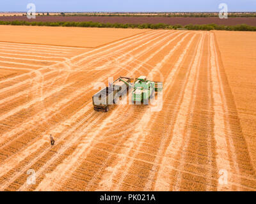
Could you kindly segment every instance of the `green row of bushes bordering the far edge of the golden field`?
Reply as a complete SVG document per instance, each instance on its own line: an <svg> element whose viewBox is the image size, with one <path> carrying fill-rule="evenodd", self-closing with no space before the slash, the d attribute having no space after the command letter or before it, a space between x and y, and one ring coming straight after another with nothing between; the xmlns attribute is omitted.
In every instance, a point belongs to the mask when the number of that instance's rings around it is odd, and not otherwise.
<svg viewBox="0 0 256 204"><path fill-rule="evenodd" d="M0 21L0 25L33 25L33 26L63 26L63 27L112 27L112 28L137 28L137 29L187 29L187 30L223 30L223 31L256 31L252 25L168 25L168 24L111 24L100 22L28 22L24 20Z"/></svg>

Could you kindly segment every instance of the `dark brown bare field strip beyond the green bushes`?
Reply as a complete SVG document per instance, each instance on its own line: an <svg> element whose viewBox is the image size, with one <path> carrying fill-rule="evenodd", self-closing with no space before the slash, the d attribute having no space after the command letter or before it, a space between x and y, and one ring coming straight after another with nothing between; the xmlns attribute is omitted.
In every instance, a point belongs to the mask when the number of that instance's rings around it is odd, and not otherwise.
<svg viewBox="0 0 256 204"><path fill-rule="evenodd" d="M102 23L121 23L121 24L217 24L217 25L237 25L247 24L256 26L256 18L228 18L220 19L215 17L61 17L61 16L49 16L49 17L38 17L35 19L28 19L27 17L0 17L0 20L26 20L29 22L42 21L42 22L102 22Z"/></svg>

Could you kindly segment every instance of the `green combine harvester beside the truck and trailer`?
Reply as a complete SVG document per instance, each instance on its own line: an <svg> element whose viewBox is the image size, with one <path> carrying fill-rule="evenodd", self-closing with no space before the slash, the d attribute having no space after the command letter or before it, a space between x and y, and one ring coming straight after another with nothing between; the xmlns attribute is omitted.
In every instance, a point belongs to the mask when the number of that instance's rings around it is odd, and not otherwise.
<svg viewBox="0 0 256 204"><path fill-rule="evenodd" d="M163 82L153 82L147 80L147 77L141 76L134 82L132 101L135 104L143 102L144 105L148 105L149 99L154 97L155 92L162 90Z"/></svg>

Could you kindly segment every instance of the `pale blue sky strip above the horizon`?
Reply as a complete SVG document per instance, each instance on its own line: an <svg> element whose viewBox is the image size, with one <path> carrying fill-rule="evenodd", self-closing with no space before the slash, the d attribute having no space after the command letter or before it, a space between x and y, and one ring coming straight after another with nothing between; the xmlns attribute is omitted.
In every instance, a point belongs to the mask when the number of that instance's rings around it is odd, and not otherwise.
<svg viewBox="0 0 256 204"><path fill-rule="evenodd" d="M228 11L256 11L256 0L0 0L0 11L27 11L28 3L36 11L219 11L220 3Z"/></svg>

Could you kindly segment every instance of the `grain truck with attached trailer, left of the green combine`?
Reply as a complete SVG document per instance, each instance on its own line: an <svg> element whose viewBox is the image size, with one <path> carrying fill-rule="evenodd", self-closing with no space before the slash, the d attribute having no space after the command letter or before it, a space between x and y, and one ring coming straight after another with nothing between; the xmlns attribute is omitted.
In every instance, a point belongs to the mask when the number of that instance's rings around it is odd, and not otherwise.
<svg viewBox="0 0 256 204"><path fill-rule="evenodd" d="M94 94L92 96L94 110L108 112L109 105L113 105L117 98L127 93L127 90L132 87L131 80L129 77L119 77L109 87Z"/></svg>

